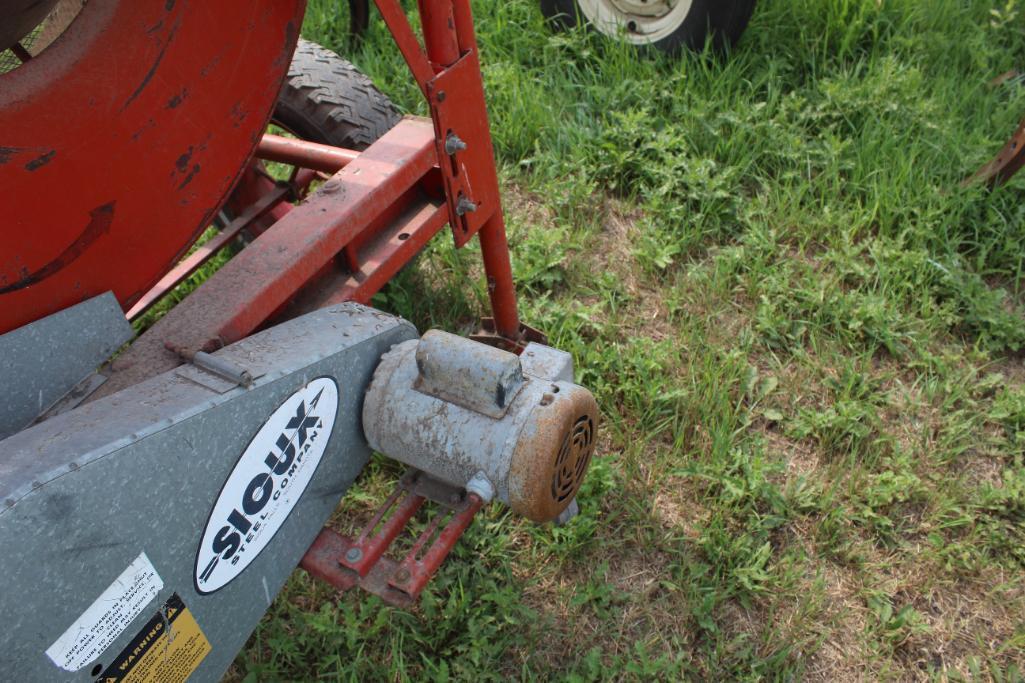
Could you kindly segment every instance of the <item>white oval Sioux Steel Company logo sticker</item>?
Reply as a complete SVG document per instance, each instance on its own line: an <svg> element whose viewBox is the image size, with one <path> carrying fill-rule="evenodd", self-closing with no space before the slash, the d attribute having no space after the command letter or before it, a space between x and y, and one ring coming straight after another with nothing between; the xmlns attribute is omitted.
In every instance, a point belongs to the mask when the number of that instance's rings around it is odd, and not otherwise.
<svg viewBox="0 0 1025 683"><path fill-rule="evenodd" d="M313 479L338 413L338 386L318 377L274 411L235 465L196 556L196 590L223 588L266 548Z"/></svg>

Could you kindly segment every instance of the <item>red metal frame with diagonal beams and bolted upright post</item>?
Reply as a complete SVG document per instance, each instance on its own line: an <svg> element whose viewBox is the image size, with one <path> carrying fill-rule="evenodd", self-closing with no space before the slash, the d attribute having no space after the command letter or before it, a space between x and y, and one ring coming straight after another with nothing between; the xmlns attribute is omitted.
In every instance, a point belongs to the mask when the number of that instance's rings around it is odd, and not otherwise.
<svg viewBox="0 0 1025 683"><path fill-rule="evenodd" d="M258 233L119 358L110 394L277 320L343 300L367 303L445 225L478 236L493 317L476 338L520 351L542 340L520 321L468 0L419 0L422 49L398 0L376 0L430 107L364 152L264 135L234 194L238 217L129 312L139 315L243 229ZM295 166L288 183L260 160ZM319 173L329 179L300 204ZM240 198L242 201L240 202ZM173 350L173 351L172 351Z"/></svg>

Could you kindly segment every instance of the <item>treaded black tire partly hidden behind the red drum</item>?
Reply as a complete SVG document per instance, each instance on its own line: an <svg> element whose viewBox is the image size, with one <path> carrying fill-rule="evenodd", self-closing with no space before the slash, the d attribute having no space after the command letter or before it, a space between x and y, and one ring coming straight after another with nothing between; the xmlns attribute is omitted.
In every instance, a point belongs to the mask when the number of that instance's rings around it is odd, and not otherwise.
<svg viewBox="0 0 1025 683"><path fill-rule="evenodd" d="M312 143L365 150L401 118L356 67L299 39L272 122Z"/></svg>

